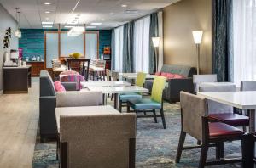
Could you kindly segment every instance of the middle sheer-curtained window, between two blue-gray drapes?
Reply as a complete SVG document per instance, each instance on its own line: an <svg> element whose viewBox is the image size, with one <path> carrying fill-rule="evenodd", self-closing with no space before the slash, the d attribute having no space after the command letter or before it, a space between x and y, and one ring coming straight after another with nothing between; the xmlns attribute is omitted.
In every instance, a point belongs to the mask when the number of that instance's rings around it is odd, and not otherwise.
<svg viewBox="0 0 256 168"><path fill-rule="evenodd" d="M134 67L136 72L149 72L149 28L149 16L137 20L134 25Z"/></svg>

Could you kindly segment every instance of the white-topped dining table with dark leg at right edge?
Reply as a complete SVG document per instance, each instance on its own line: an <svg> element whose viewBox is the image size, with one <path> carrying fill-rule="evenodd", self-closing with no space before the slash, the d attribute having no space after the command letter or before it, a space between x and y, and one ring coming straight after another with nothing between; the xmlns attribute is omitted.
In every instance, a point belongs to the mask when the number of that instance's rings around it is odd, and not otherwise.
<svg viewBox="0 0 256 168"><path fill-rule="evenodd" d="M243 92L198 92L202 98L207 98L221 104L233 106L237 109L246 109L249 115L249 138L246 149L246 167L253 167L254 139L255 139L255 109L256 91Z"/></svg>

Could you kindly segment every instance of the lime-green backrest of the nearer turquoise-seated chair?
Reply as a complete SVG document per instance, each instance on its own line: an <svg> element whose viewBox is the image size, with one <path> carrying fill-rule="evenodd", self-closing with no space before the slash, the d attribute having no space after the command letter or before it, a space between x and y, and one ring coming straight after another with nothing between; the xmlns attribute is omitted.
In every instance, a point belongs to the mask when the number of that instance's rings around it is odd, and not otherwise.
<svg viewBox="0 0 256 168"><path fill-rule="evenodd" d="M150 98L155 102L161 103L163 91L165 87L166 87L166 77L155 76Z"/></svg>

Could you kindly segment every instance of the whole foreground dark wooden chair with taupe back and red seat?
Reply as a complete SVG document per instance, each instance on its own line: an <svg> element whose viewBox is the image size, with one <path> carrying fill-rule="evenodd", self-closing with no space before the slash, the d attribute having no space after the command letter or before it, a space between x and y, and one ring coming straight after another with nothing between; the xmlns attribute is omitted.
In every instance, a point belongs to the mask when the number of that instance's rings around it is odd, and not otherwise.
<svg viewBox="0 0 256 168"><path fill-rule="evenodd" d="M177 147L176 163L180 162L182 151L185 149L201 148L199 168L206 165L221 165L236 163L246 160L245 147L247 135L240 129L224 124L222 122L211 122L208 117L207 99L201 98L189 92L180 93L181 104L181 133ZM201 141L201 145L184 147L186 135ZM224 159L224 142L241 140L242 157L235 159ZM216 148L216 160L207 161L209 147Z"/></svg>

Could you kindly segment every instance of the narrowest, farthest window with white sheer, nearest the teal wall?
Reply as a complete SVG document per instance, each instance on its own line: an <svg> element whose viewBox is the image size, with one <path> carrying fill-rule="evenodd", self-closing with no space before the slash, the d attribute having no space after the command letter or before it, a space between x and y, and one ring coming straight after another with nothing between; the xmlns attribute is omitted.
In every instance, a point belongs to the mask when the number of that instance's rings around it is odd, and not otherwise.
<svg viewBox="0 0 256 168"><path fill-rule="evenodd" d="M114 70L123 71L124 26L114 29Z"/></svg>

